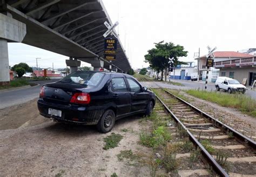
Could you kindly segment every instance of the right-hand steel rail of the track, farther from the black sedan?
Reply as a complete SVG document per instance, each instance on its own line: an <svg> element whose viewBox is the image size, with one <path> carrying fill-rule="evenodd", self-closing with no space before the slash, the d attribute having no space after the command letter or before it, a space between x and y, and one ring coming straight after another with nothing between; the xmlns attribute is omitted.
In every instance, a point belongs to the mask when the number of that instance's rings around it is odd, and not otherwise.
<svg viewBox="0 0 256 177"><path fill-rule="evenodd" d="M223 124L223 122L213 118L211 115L205 113L204 111L200 110L199 108L191 105L190 103L187 103L187 101L175 96L173 93L163 89L165 92L171 94L171 96L173 96L174 98L178 99L179 101L181 101L182 103L186 104L187 106L189 106L190 108L192 108L192 110L196 111L197 113L200 113L201 115L203 115L205 118L210 119L211 121L217 122L219 126L224 127L226 130L230 131L233 133L234 137L239 138L242 141L245 141L248 145L250 145L252 148L256 149L256 142L248 137L246 137L245 135L239 133L238 131L234 130L233 128L231 128L230 126Z"/></svg>

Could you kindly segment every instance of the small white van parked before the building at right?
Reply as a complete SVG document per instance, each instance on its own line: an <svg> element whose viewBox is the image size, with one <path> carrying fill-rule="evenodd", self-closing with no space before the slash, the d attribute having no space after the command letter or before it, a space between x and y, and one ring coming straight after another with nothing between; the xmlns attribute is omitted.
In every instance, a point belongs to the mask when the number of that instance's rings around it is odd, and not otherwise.
<svg viewBox="0 0 256 177"><path fill-rule="evenodd" d="M228 93L232 92L242 92L245 93L246 87L239 83L238 80L228 78L228 77L218 77L215 81L216 90L219 91L223 89L228 91Z"/></svg>

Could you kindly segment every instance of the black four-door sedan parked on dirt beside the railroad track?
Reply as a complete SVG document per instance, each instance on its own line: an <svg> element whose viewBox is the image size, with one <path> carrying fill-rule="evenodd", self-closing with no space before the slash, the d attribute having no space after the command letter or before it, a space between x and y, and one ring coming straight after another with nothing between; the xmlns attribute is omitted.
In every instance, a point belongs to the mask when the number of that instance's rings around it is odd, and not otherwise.
<svg viewBox="0 0 256 177"><path fill-rule="evenodd" d="M113 72L76 71L41 88L38 110L55 121L97 125L112 130L117 119L150 115L156 103L153 92L132 76Z"/></svg>

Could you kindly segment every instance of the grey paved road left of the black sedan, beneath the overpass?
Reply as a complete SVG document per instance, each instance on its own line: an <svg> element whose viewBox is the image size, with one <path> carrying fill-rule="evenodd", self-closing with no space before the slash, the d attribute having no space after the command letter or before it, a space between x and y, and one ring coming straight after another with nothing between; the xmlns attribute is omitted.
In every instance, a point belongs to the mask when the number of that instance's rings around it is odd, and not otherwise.
<svg viewBox="0 0 256 177"><path fill-rule="evenodd" d="M53 83L58 80L59 79L33 81L33 83L39 85L18 90L0 91L0 109L35 99L39 97L39 92L43 84Z"/></svg>

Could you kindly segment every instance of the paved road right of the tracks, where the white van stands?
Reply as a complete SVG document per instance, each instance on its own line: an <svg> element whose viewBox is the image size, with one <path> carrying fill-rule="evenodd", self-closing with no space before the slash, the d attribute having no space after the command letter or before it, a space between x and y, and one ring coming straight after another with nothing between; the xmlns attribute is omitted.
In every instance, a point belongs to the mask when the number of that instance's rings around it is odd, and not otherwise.
<svg viewBox="0 0 256 177"><path fill-rule="evenodd" d="M205 84L203 83L198 83L197 81L183 81L183 80L171 80L171 81L176 81L178 83L181 83L185 86L176 86L176 85L171 85L171 84L166 84L166 83L162 83L160 81L158 82L146 82L146 84L149 86L149 87L155 87L156 84L158 84L159 86L161 87L166 87L166 88L176 88L176 89L181 89L181 90L188 90L188 89L200 89L200 90L203 90L204 87L205 87ZM207 90L208 91L215 91L216 88L214 86L214 83L210 83L208 84L207 86ZM245 94L253 99L256 99L256 91L251 91L251 90L247 90L245 92Z"/></svg>

